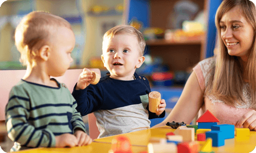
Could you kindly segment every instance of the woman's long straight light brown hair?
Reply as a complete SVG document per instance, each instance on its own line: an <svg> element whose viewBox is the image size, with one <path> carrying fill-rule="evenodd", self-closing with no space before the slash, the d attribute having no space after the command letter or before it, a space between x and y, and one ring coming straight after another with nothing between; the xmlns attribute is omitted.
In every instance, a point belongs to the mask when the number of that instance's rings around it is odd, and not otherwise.
<svg viewBox="0 0 256 153"><path fill-rule="evenodd" d="M248 64L243 68L240 57L230 56L227 47L221 38L221 28L219 25L222 16L239 6L243 11L244 18L253 26L254 42L249 52ZM214 75L209 78L209 84L206 88L206 95L213 95L217 99L224 101L226 104L244 105L243 96L243 74L248 76L250 95L252 98L251 108L256 108L256 7L250 0L223 0L216 12L215 24L217 28L216 36L216 67Z"/></svg>

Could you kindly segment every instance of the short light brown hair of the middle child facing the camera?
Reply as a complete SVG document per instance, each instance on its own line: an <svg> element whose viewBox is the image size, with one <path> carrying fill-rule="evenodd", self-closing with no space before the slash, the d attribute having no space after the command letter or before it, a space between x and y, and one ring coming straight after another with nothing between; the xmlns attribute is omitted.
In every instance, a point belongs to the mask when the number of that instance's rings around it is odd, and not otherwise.
<svg viewBox="0 0 256 153"><path fill-rule="evenodd" d="M141 55L143 56L145 47L146 47L145 39L140 31L135 29L135 27L128 26L128 25L119 25L108 30L103 36L102 50L104 49L106 40L108 40L109 38L113 38L117 34L125 34L125 33L133 34L137 37L138 43L140 45Z"/></svg>

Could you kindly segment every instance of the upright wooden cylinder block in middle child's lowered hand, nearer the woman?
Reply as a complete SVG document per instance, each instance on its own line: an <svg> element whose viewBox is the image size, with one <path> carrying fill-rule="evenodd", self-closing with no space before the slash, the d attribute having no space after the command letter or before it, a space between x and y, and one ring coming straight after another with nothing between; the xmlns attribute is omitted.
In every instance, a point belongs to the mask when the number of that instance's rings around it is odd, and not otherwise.
<svg viewBox="0 0 256 153"><path fill-rule="evenodd" d="M161 101L161 94L157 91L152 91L148 94L148 109L150 112L155 113Z"/></svg>

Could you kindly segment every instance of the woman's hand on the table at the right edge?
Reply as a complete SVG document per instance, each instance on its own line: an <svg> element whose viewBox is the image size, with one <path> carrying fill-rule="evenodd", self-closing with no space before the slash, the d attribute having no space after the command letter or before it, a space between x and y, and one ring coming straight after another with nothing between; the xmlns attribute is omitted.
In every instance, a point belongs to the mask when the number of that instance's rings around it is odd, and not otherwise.
<svg viewBox="0 0 256 153"><path fill-rule="evenodd" d="M250 110L245 113L241 119L236 123L236 127L249 128L250 130L256 131L256 111Z"/></svg>

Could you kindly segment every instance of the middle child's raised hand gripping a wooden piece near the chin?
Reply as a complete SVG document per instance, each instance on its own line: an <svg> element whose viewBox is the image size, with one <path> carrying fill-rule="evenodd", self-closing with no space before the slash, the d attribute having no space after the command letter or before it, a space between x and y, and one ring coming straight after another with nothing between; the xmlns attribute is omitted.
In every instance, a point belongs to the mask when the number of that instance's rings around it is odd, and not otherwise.
<svg viewBox="0 0 256 153"><path fill-rule="evenodd" d="M93 73L89 69L84 68L82 73L79 75L75 89L85 89L90 84L92 77Z"/></svg>

